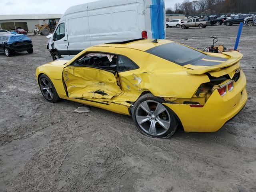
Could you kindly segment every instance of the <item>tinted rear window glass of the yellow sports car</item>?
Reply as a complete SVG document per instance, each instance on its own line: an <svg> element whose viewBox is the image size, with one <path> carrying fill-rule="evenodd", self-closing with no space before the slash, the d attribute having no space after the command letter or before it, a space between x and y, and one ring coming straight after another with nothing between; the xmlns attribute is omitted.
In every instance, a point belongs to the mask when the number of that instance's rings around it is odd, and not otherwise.
<svg viewBox="0 0 256 192"><path fill-rule="evenodd" d="M174 62L180 66L191 64L206 57L205 54L178 43L159 45L146 50L146 52L170 62Z"/></svg>

